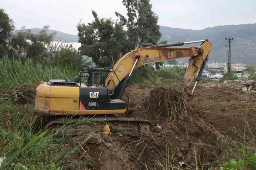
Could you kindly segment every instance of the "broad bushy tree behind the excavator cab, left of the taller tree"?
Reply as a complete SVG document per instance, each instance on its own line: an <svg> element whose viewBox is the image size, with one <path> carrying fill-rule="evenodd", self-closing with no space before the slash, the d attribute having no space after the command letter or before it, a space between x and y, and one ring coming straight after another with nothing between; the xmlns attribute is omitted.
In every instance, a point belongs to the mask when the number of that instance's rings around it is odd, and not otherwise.
<svg viewBox="0 0 256 170"><path fill-rule="evenodd" d="M111 18L100 19L95 11L92 11L94 21L88 25L78 23L78 42L81 43L81 53L92 58L99 67L114 66L121 57L126 43L126 31L123 23L113 21Z"/></svg>

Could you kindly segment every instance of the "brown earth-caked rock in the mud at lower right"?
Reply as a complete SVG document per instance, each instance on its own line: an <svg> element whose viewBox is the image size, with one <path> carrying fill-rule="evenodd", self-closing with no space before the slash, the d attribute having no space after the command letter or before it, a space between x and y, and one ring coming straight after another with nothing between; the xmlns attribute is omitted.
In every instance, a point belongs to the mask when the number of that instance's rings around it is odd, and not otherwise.
<svg viewBox="0 0 256 170"><path fill-rule="evenodd" d="M197 162L200 162L202 151L203 146L200 143L196 142L190 144L188 153L185 155L185 162L187 165L195 163L195 159L197 159Z"/></svg>

